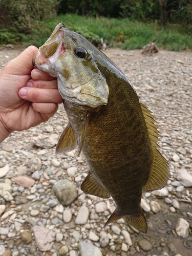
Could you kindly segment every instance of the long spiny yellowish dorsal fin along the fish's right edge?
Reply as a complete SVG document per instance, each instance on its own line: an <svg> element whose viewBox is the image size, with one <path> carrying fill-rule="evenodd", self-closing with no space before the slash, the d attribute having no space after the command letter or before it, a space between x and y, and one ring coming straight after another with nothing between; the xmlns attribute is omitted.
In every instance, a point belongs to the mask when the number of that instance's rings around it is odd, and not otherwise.
<svg viewBox="0 0 192 256"><path fill-rule="evenodd" d="M169 167L166 159L157 150L159 145L159 133L157 125L155 125L154 116L152 112L147 109L145 105L141 104L141 109L147 126L148 136L150 137L152 151L153 151L153 164L147 183L144 186L145 191L152 191L164 187L168 180Z"/></svg>

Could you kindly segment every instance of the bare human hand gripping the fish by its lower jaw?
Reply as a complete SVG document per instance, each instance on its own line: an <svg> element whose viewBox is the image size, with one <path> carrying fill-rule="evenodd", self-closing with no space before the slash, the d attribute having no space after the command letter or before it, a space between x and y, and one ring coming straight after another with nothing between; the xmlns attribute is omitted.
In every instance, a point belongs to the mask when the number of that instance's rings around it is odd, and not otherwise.
<svg viewBox="0 0 192 256"><path fill-rule="evenodd" d="M28 47L0 73L0 143L12 131L48 121L62 102L56 78L33 67L37 51Z"/></svg>

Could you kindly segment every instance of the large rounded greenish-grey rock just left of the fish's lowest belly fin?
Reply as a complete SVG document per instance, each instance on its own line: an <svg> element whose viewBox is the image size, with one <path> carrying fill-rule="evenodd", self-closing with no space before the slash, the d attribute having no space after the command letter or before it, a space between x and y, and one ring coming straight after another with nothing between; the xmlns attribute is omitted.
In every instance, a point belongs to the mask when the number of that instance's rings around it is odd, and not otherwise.
<svg viewBox="0 0 192 256"><path fill-rule="evenodd" d="M68 206L77 198L76 186L69 180L59 180L53 190L63 206Z"/></svg>

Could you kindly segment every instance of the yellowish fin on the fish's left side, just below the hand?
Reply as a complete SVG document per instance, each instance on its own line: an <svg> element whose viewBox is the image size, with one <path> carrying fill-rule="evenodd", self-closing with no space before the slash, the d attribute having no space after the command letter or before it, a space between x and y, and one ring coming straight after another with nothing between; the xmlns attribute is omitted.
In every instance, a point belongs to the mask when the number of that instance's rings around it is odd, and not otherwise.
<svg viewBox="0 0 192 256"><path fill-rule="evenodd" d="M74 150L78 146L75 131L70 123L62 132L56 145L56 154L62 154Z"/></svg>

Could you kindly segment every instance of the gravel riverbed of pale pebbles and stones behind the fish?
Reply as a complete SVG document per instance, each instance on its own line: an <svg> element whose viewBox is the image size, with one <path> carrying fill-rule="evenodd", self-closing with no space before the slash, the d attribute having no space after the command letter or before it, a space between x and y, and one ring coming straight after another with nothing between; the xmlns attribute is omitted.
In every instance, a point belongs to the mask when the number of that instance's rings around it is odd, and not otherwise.
<svg viewBox="0 0 192 256"><path fill-rule="evenodd" d="M20 51L1 50L0 70ZM76 150L55 155L68 123L61 104L48 122L13 132L0 144L0 256L192 255L192 52L160 51L150 57L139 50L104 53L154 113L160 151L170 165L165 188L143 193L148 232L122 219L104 228L115 209L113 199L80 190L88 172L83 155L77 158Z"/></svg>

